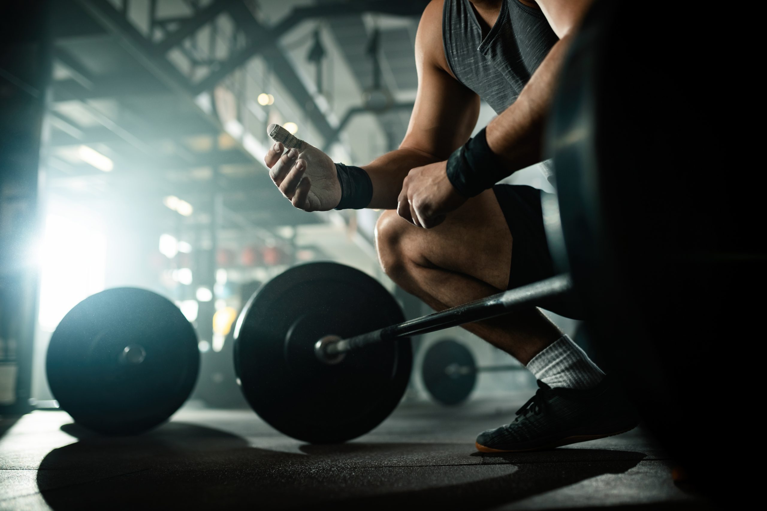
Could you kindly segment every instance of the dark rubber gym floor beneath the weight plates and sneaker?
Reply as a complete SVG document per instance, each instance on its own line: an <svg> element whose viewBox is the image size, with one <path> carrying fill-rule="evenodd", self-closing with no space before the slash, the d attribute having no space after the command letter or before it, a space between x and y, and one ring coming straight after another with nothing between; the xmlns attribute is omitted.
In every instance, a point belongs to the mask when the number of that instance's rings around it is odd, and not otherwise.
<svg viewBox="0 0 767 511"><path fill-rule="evenodd" d="M476 452L476 434L526 398L404 403L340 445L194 403L134 437L35 411L0 421L0 509L709 509L674 483L673 461L642 427L542 452Z"/></svg>

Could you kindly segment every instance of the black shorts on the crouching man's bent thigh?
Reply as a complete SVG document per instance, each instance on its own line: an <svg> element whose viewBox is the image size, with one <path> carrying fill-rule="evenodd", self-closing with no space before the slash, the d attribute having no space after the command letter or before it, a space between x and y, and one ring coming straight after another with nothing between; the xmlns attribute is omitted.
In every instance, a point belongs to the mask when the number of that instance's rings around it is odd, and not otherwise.
<svg viewBox="0 0 767 511"><path fill-rule="evenodd" d="M495 185L492 189L512 233L512 263L507 289L561 273L551 260L543 228L541 197L546 192L527 185ZM574 301L572 297L553 300L546 309L560 316L581 319L581 311Z"/></svg>

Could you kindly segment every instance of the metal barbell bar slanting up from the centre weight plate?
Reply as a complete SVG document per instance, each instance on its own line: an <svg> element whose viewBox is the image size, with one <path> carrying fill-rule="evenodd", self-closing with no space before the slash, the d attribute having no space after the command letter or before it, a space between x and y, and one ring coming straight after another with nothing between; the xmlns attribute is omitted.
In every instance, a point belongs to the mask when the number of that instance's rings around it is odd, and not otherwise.
<svg viewBox="0 0 767 511"><path fill-rule="evenodd" d="M367 332L359 336L328 342L321 347L324 353L318 353L320 359L326 356L350 352L368 344L381 341L400 339L416 334L436 332L450 326L464 325L482 319L502 316L523 306L543 305L546 300L567 293L572 288L570 276L561 274L545 280L540 280L522 287L504 291L480 300L465 303L439 313L410 319L396 325L385 326L382 329Z"/></svg>

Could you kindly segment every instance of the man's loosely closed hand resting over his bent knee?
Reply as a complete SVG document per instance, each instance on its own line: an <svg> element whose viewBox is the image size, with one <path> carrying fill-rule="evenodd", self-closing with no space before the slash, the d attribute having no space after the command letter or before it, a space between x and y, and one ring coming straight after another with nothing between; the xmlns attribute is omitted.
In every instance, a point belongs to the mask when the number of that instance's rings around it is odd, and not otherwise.
<svg viewBox="0 0 767 511"><path fill-rule="evenodd" d="M397 215L418 227L430 229L466 202L447 179L447 162L436 162L410 170L397 198Z"/></svg>

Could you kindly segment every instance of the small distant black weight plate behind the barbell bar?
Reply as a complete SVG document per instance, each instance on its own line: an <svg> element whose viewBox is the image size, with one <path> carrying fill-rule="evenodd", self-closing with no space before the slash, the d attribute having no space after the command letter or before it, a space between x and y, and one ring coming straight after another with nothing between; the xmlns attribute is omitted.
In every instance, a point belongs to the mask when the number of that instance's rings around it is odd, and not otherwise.
<svg viewBox="0 0 767 511"><path fill-rule="evenodd" d="M421 376L423 385L436 401L443 405L458 405L474 390L476 362L472 352L462 343L444 339L426 350Z"/></svg>

